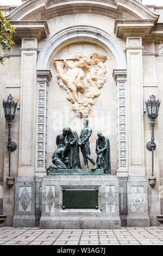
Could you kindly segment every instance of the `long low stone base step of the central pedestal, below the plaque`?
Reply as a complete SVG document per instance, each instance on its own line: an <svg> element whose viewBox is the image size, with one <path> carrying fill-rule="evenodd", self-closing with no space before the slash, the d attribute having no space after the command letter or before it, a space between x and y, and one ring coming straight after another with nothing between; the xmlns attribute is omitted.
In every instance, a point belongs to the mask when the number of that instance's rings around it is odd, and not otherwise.
<svg viewBox="0 0 163 256"><path fill-rule="evenodd" d="M41 229L120 229L120 217L41 217Z"/></svg>

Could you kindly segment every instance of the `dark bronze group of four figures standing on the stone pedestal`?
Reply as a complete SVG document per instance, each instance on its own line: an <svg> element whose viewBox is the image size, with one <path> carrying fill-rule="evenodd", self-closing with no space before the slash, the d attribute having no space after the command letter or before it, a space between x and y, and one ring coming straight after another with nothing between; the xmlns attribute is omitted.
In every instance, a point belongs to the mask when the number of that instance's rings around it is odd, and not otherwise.
<svg viewBox="0 0 163 256"><path fill-rule="evenodd" d="M97 133L96 141L96 162L92 159L90 153L89 138L92 134L92 129L89 126L89 120L84 119L84 127L78 133L72 131L70 127L65 127L62 134L57 136L57 150L54 151L52 162L54 166L49 166L49 169L81 169L79 159L79 147L82 151L85 168L89 169L88 160L93 164L92 171L103 169L105 173L111 173L110 164L110 142L109 139L103 136L102 132Z"/></svg>

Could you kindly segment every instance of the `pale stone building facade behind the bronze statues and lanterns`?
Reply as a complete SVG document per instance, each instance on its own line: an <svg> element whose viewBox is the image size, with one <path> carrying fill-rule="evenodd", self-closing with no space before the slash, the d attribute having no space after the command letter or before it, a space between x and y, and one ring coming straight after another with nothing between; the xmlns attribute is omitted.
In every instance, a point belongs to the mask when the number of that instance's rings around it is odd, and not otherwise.
<svg viewBox="0 0 163 256"><path fill-rule="evenodd" d="M4 54L5 63L0 67L0 99L2 102L11 94L20 102L11 127L12 139L17 144L17 150L11 153L11 171L15 178L12 187L6 179L8 126L0 105L0 215L6 216L3 225L39 225L40 218L47 216L42 213L45 210L43 194L54 197L48 218L51 212L54 216L55 186L66 186L68 179L74 186L79 181L80 186L105 184L103 200L114 197L112 205L116 213L112 215L108 208L108 220L118 216L121 226L160 225L157 216L163 214L163 7L145 6L136 0L22 2L18 7L2 7L6 19L16 27L16 44ZM113 175L112 178L104 176L104 181L96 177L84 179L84 176L77 176L76 182L71 176L51 181L45 177L46 167L57 149L57 135L65 126L79 135L83 123L58 84L54 59L71 59L81 52L85 56L89 53L106 56L106 81L87 118L93 129L90 138L93 159L96 159L97 132L102 131L110 139ZM146 143L151 138L151 124L145 107L145 100L152 94L161 101L154 127L156 183L153 187L148 181L152 154L146 149ZM83 168L81 153L80 159ZM45 201L48 204L48 200ZM89 214L83 212L85 218L94 216L93 211ZM59 217L60 221L66 222L66 216L70 215L67 211L62 219ZM93 220L92 217L92 224L74 225L104 228L104 222L98 224ZM41 223L44 227L43 221ZM67 227L73 227L73 223L74 219ZM49 224L51 227L61 225ZM108 227L115 228L115 225Z"/></svg>

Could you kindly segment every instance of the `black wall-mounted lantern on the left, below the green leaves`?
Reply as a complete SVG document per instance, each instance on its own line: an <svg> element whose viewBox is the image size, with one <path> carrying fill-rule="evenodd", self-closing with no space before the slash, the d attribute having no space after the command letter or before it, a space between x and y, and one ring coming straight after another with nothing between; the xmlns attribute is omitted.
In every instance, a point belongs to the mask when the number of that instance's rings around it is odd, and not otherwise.
<svg viewBox="0 0 163 256"><path fill-rule="evenodd" d="M15 178L11 176L11 152L16 150L17 145L15 142L11 141L11 125L12 125L12 121L15 118L16 107L17 107L17 102L15 103L11 94L7 96L7 101L3 100L4 116L8 122L8 127L9 127L8 146L7 146L9 150L9 176L7 177L7 184L9 186L14 185L14 180L15 180Z"/></svg>

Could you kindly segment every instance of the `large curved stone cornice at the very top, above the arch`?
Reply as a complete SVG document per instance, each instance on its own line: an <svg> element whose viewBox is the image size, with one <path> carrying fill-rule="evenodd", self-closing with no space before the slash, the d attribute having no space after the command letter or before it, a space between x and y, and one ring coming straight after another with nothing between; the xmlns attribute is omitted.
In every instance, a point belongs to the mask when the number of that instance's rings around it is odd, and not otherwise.
<svg viewBox="0 0 163 256"><path fill-rule="evenodd" d="M79 12L97 13L114 19L122 19L123 16L129 19L159 18L159 15L136 0L28 0L11 11L7 20L34 20L37 16L43 20Z"/></svg>

